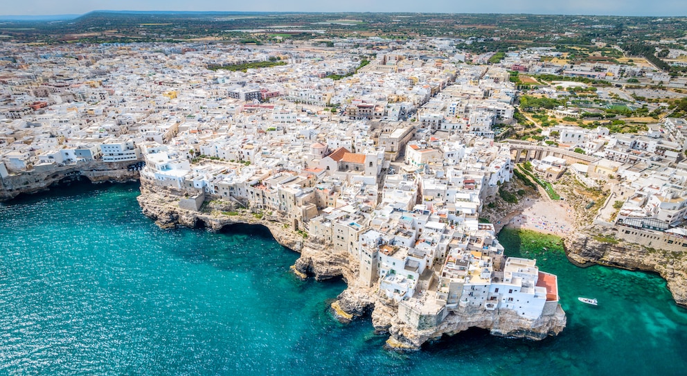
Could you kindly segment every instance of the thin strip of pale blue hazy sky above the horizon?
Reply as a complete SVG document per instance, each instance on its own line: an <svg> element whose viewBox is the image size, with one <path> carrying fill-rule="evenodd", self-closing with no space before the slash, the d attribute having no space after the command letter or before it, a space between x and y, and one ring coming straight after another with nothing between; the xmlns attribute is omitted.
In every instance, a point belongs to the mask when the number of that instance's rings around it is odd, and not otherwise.
<svg viewBox="0 0 687 376"><path fill-rule="evenodd" d="M0 15L80 15L92 10L445 12L686 16L686 0L1 0Z"/></svg>

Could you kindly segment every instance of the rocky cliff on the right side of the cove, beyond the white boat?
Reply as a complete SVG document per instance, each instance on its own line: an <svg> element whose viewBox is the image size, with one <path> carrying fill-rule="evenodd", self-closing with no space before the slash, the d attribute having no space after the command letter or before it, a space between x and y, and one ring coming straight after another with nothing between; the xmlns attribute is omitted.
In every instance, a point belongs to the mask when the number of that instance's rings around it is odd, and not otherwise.
<svg viewBox="0 0 687 376"><path fill-rule="evenodd" d="M591 263L629 270L653 271L668 282L679 305L687 305L687 252L648 249L627 242L601 242L591 234L604 229L590 227L565 240L566 255L576 265Z"/></svg>

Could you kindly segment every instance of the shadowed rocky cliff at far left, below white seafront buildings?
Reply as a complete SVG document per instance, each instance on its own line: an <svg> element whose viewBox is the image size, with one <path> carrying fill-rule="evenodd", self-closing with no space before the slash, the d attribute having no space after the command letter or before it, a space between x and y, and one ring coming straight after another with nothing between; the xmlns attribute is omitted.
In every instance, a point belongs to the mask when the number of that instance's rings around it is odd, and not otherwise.
<svg viewBox="0 0 687 376"><path fill-rule="evenodd" d="M132 162L89 162L78 165L35 169L23 174L10 175L0 179L0 201L12 199L21 193L37 193L57 186L62 181L89 179L92 183L136 181L139 172L127 168Z"/></svg>

